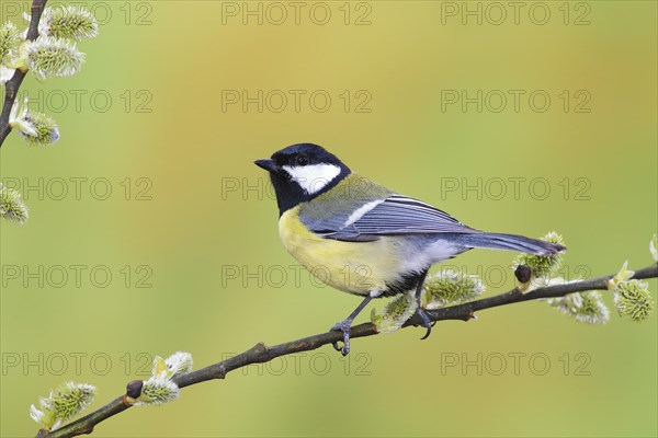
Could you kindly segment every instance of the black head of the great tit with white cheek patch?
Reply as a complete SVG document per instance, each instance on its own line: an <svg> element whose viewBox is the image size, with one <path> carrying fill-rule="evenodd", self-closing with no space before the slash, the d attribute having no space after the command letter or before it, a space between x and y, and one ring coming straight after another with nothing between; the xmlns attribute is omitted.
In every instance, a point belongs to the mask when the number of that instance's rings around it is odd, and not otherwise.
<svg viewBox="0 0 658 438"><path fill-rule="evenodd" d="M270 172L280 215L331 189L350 174L350 168L334 154L313 143L288 146L254 163Z"/></svg>

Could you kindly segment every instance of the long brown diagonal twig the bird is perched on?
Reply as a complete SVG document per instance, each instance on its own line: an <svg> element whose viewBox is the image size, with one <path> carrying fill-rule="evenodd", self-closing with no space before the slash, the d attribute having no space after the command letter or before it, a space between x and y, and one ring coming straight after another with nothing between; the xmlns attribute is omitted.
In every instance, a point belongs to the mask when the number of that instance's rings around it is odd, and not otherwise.
<svg viewBox="0 0 658 438"><path fill-rule="evenodd" d="M490 298L484 298L481 300L470 301L467 303L451 306L447 308L441 308L436 310L430 310L427 312L432 321L468 321L474 318L474 312L479 310L491 309L499 306L513 304L515 302L538 300L543 298L564 297L569 293L581 292L586 290L605 290L608 289L608 280L610 280L612 277L613 275L608 275L604 277L592 278L583 281L549 286L532 290L527 293L522 293L518 289L512 289L508 292L500 293ZM636 270L635 275L633 276L633 278L636 279L656 277L658 277L658 264ZM418 314L415 314L409 321L407 321L405 326L418 325L420 321L421 320L418 316ZM364 323L352 327L351 337L356 338L372 336L376 334L377 330L375 324ZM246 367L251 364L266 362L276 357L291 355L294 353L310 351L321 347L322 345L340 341L342 341L342 333L328 332L274 346L266 346L263 343L259 343L245 353L241 353L220 362L211 365L208 367L202 368L200 370L180 376L178 378L174 378L173 381L179 385L179 388L184 388L208 380L224 379L226 374L230 371ZM36 437L68 438L83 434L91 434L95 425L127 410L128 407L131 407L131 405L126 402L125 395L123 395L107 403L103 407L100 407L99 410L92 412L91 414L86 415L82 418L79 418L78 420L70 423L57 430L47 431L42 429L38 431Z"/></svg>

